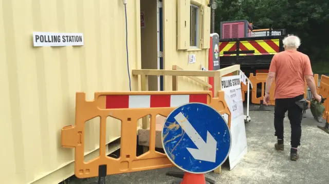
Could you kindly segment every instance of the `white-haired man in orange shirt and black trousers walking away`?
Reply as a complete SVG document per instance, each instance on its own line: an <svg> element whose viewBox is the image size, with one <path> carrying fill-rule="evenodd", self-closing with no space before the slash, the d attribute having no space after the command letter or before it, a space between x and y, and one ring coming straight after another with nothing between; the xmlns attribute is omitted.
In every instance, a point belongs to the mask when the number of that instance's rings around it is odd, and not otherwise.
<svg viewBox="0 0 329 184"><path fill-rule="evenodd" d="M297 148L300 146L301 122L303 110L295 103L304 98L304 85L307 85L312 95L319 102L321 96L317 94L312 68L307 55L297 51L300 39L295 35L288 35L283 39L285 51L273 56L266 80L264 104L269 101L269 91L273 79L275 79L275 112L274 127L278 142L277 150L284 150L283 144L283 119L288 111L291 127L290 159L296 161L299 158Z"/></svg>

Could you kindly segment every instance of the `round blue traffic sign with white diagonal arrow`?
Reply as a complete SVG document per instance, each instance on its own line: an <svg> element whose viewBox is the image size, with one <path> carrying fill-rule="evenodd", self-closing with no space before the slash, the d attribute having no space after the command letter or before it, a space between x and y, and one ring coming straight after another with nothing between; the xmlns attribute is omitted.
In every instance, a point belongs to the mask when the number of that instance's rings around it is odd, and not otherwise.
<svg viewBox="0 0 329 184"><path fill-rule="evenodd" d="M202 174L220 167L231 149L227 122L212 107L189 103L177 107L162 128L162 146L179 169Z"/></svg>

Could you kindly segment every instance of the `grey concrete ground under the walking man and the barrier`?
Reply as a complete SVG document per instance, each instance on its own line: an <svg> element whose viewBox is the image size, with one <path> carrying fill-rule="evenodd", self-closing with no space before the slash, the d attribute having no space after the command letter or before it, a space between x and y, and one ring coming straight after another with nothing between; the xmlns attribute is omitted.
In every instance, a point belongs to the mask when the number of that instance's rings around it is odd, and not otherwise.
<svg viewBox="0 0 329 184"><path fill-rule="evenodd" d="M258 106L255 106L258 107ZM250 108L255 108L250 107ZM273 108L270 112L250 111L251 122L246 124L248 153L231 171L225 166L221 174L208 173L207 177L216 183L329 183L329 134L317 128L321 125L307 110L302 121L302 138L299 149L300 159L291 161L290 126L285 119L285 151L274 149L276 137L273 128ZM246 108L245 108L246 109ZM323 121L324 122L324 121ZM322 123L324 125L324 123ZM166 176L167 171L177 168L157 169L143 172L107 176L109 184L168 184L175 180ZM97 178L71 179L66 183L89 184Z"/></svg>

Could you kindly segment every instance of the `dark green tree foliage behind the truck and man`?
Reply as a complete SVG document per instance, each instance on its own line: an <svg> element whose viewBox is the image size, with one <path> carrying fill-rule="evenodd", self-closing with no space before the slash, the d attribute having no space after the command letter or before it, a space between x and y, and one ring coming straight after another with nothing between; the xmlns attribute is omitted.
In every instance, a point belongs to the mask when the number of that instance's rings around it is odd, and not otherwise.
<svg viewBox="0 0 329 184"><path fill-rule="evenodd" d="M329 62L329 1L216 0L215 32L220 22L246 19L265 29L286 29L301 38L300 51L312 62ZM257 29L257 28L256 28Z"/></svg>

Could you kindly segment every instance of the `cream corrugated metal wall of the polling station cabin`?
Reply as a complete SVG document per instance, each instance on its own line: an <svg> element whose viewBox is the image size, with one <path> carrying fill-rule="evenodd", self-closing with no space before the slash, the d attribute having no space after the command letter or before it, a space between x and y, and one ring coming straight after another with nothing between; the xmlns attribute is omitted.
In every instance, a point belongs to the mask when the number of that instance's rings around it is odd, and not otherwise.
<svg viewBox="0 0 329 184"><path fill-rule="evenodd" d="M130 70L140 68L139 2L127 5ZM75 124L75 93L128 91L125 16L116 0L2 0L0 3L1 183L58 183L74 149L61 129ZM82 47L33 47L32 32L82 32ZM138 90L132 77L132 89ZM97 149L99 125L88 123L86 153ZM120 136L116 121L107 129ZM39 180L38 180L39 179Z"/></svg>

